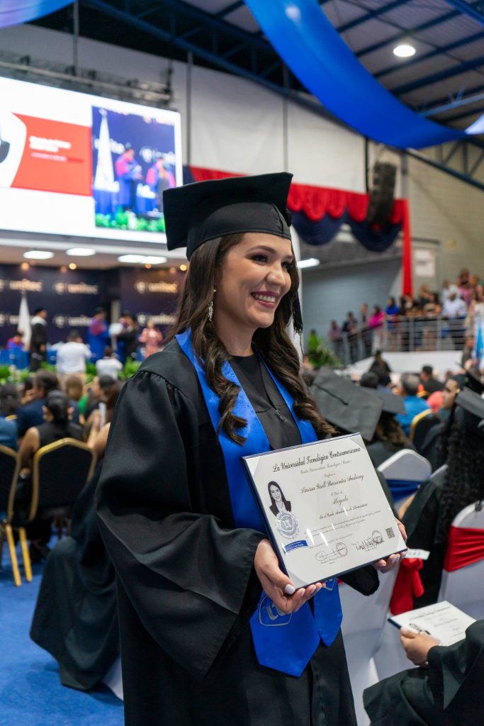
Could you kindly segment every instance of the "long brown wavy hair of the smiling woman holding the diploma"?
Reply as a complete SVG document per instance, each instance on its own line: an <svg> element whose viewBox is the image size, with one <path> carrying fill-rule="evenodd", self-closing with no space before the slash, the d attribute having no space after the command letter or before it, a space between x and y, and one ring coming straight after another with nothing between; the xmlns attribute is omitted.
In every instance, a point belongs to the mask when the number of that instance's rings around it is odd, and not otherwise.
<svg viewBox="0 0 484 726"><path fill-rule="evenodd" d="M243 428L247 421L234 415L233 410L239 393L239 386L227 380L222 373L223 364L230 360L215 325L208 319L208 306L213 301L213 289L216 271L223 264L223 258L231 247L242 241L243 234L228 234L218 237L208 244L200 245L190 260L189 271L186 273L185 285L176 323L170 331L169 338L185 330L192 330L192 344L195 355L207 376L210 388L219 396L218 411L221 415L220 429L237 444L245 439L237 429ZM277 380L279 380L294 398L294 410L298 417L308 420L316 431L319 439L324 439L333 432L331 426L319 415L316 404L308 393L303 379L300 377L298 351L292 345L287 334L293 310L298 301L299 274L295 265L290 267L291 287L284 295L274 314L274 322L270 327L258 328L253 337L253 344L267 363Z"/></svg>

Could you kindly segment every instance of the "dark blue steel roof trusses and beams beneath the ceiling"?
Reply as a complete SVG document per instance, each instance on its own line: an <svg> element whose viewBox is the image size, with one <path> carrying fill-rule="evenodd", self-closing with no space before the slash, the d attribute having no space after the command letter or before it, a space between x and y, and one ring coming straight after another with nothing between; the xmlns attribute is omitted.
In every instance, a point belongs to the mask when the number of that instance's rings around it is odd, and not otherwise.
<svg viewBox="0 0 484 726"><path fill-rule="evenodd" d="M372 20L389 9L403 5L408 0L393 0L382 2L381 6L365 13L365 15L356 20L346 23L337 28L340 32L350 30L366 20ZM327 0L319 0L319 4L324 7ZM430 20L427 23L406 31L401 31L392 38L387 38L379 44L368 46L358 52L358 56L372 52L379 47L394 43L401 37L411 36L419 30L430 28L440 23L445 23L451 18L458 17L464 12L464 9L457 9L457 5L465 4L472 13L482 13L484 0L475 0L473 2L464 3L464 0L448 0L454 9L443 15ZM81 12L83 8L95 11L104 17L109 17L120 24L120 32L123 32L123 26L129 31L130 28L146 34L148 37L155 38L160 41L160 55L171 57L171 49L177 49L179 57L186 60L197 58L206 65L213 68L233 73L247 80L254 81L266 89L279 94L284 99L290 99L297 105L305 107L311 113L316 113L323 118L329 118L333 122L343 126L343 124L332 117L319 102L311 99L305 94L300 94L302 86L298 80L292 76L281 58L274 51L272 46L263 37L262 33L248 33L242 28L227 22L226 18L242 7L242 0L227 0L226 7L218 13L204 12L181 0L79 0ZM484 31L483 31L484 33ZM446 48L430 51L426 57L433 57L438 52L450 51L465 42L472 42L484 37L483 33L475 33L462 41L456 41L449 44ZM419 58L418 60L424 60ZM415 60L414 62L417 62ZM448 78L456 73L462 72L473 65L484 62L484 57L475 59L472 63L462 63L452 68L446 69L440 73L432 74L425 78L419 79L413 84L406 84L397 92L404 93L411 88L424 86L432 81ZM465 66L465 68L464 68ZM387 69L390 72L392 69ZM382 72L381 75L384 75ZM468 94L479 93L484 87L469 89ZM477 100L477 99L474 99ZM469 99L457 97L456 99L443 98L432 104L432 108L425 110L425 115L434 115L442 112L442 106L458 109L462 105L467 105ZM456 117L454 117L456 118ZM468 162L471 156L468 152L469 144L479 147L479 154L473 158L473 163ZM484 183L477 178L483 170L484 164L484 143L477 140L469 140L458 142L451 147L451 153L443 153L438 160L433 160L420 152L409 150L409 155L418 158L424 163L430 164L438 168L440 171L450 174L461 181L472 184L479 189L484 190Z"/></svg>

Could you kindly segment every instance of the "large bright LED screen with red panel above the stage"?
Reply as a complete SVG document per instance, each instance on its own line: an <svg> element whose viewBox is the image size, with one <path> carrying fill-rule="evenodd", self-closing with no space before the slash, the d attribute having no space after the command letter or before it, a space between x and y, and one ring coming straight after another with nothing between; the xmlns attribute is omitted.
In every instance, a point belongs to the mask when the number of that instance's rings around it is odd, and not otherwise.
<svg viewBox="0 0 484 726"><path fill-rule="evenodd" d="M164 242L180 115L0 78L0 229Z"/></svg>

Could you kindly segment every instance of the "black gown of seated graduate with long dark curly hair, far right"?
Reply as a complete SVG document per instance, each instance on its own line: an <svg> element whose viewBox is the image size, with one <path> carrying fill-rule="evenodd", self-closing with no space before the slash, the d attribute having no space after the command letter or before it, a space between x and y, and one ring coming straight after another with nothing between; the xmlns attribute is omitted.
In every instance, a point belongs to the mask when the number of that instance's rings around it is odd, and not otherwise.
<svg viewBox="0 0 484 726"><path fill-rule="evenodd" d="M438 599L442 579L443 560L446 557L446 544L435 543L440 499L446 480L446 468L432 474L429 481L422 484L413 502L402 517L407 534L407 547L430 552L419 571L424 586L422 597L414 597L414 608L432 605Z"/></svg>

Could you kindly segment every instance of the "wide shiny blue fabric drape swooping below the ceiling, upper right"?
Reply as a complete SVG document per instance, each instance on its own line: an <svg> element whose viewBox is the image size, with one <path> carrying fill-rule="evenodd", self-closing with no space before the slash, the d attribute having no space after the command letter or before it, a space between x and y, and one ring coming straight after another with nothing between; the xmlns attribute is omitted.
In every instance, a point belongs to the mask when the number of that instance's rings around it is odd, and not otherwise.
<svg viewBox="0 0 484 726"><path fill-rule="evenodd" d="M331 113L370 139L401 149L464 139L412 111L369 73L316 0L245 0L276 52ZM467 129L468 133L477 133Z"/></svg>

